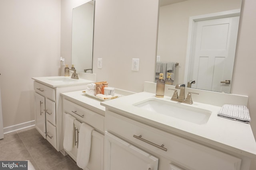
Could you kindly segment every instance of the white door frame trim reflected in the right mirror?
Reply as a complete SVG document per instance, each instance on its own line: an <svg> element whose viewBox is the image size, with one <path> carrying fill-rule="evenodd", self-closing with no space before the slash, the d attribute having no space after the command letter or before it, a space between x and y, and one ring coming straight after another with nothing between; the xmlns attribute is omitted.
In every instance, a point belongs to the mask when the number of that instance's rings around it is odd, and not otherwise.
<svg viewBox="0 0 256 170"><path fill-rule="evenodd" d="M199 16L192 16L189 18L184 82L189 81L188 78L189 78L190 59L191 59L191 53L192 53L192 41L193 41L195 22L203 21L203 20L212 20L212 19L218 19L218 18L228 18L228 17L240 16L240 11L241 11L241 9L236 9L236 10L222 11L222 12L216 12L216 13L211 13L211 14L204 14L204 15L199 15Z"/></svg>

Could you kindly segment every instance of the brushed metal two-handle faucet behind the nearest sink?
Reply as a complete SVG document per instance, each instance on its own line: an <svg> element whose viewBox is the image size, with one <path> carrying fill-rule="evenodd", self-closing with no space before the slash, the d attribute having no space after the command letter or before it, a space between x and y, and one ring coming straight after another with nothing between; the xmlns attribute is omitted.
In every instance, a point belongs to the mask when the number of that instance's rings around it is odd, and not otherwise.
<svg viewBox="0 0 256 170"><path fill-rule="evenodd" d="M199 93L194 93L194 92L188 92L188 96L185 99L185 84L177 84L175 86L175 88L180 89L180 95L178 95L178 92L176 89L168 88L169 90L174 90L174 93L171 98L172 101L186 103L186 104L193 104L193 101L191 98L191 93L199 94Z"/></svg>

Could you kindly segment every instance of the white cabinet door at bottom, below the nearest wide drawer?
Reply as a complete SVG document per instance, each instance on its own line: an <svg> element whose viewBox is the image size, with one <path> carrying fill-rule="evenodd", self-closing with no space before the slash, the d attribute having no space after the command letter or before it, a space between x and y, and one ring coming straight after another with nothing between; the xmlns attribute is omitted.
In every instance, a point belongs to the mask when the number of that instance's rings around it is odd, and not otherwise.
<svg viewBox="0 0 256 170"><path fill-rule="evenodd" d="M105 132L105 170L157 170L158 158Z"/></svg>

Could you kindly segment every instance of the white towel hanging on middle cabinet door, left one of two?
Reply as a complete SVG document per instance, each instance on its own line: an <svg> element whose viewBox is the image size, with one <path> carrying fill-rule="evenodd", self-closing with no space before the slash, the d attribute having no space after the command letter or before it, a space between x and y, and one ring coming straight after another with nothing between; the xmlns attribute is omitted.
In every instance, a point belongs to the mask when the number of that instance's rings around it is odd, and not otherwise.
<svg viewBox="0 0 256 170"><path fill-rule="evenodd" d="M73 147L74 120L75 118L72 115L67 113L65 114L65 131L64 131L63 147L67 151L71 151Z"/></svg>

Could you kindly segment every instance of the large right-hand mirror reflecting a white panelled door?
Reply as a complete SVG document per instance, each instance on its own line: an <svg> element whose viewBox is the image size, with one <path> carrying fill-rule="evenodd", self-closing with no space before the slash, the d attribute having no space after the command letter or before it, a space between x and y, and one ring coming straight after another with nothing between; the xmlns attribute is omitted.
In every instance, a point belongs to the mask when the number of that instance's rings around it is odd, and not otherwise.
<svg viewBox="0 0 256 170"><path fill-rule="evenodd" d="M156 79L161 67L173 84L195 80L191 88L230 93L241 4L160 0Z"/></svg>

